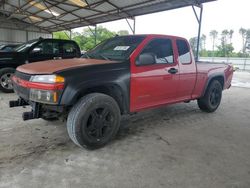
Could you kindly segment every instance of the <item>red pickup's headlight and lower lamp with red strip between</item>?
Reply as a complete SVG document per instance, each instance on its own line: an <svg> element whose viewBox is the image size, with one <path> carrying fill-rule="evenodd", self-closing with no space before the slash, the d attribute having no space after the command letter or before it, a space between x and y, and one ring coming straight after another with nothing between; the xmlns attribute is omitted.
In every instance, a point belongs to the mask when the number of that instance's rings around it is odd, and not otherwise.
<svg viewBox="0 0 250 188"><path fill-rule="evenodd" d="M58 104L64 87L64 78L58 75L36 75L30 78L30 100Z"/></svg>

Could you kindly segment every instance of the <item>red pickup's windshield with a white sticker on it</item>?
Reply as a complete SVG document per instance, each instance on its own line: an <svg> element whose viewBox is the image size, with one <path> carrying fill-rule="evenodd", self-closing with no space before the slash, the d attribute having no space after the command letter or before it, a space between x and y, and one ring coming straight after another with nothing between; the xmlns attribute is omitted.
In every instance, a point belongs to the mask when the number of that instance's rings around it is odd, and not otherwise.
<svg viewBox="0 0 250 188"><path fill-rule="evenodd" d="M117 36L102 42L93 50L86 52L83 58L126 60L143 41L145 36Z"/></svg>

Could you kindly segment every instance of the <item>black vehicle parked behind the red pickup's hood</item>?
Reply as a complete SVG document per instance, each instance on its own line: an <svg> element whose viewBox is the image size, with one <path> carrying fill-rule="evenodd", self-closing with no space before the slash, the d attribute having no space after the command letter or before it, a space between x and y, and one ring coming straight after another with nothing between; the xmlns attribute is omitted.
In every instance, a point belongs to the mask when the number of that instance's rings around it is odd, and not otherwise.
<svg viewBox="0 0 250 188"><path fill-rule="evenodd" d="M80 56L80 48L75 41L43 38L28 41L11 52L0 52L0 91L13 92L11 76L22 64Z"/></svg>

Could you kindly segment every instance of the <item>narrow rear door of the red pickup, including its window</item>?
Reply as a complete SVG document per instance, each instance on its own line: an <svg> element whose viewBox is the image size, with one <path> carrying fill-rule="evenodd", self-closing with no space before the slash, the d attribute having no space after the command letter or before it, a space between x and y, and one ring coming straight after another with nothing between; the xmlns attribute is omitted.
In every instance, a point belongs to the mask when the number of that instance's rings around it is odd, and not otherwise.
<svg viewBox="0 0 250 188"><path fill-rule="evenodd" d="M180 84L179 100L190 100L196 82L196 64L191 54L189 43L184 39L176 40L179 62Z"/></svg>

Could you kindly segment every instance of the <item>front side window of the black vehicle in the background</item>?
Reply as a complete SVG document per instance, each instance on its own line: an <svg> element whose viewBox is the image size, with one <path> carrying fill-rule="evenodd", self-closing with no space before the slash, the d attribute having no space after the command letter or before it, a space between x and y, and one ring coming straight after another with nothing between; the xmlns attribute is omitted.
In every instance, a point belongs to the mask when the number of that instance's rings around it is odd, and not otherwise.
<svg viewBox="0 0 250 188"><path fill-rule="evenodd" d="M59 44L51 41L44 41L39 43L31 51L33 54L58 54Z"/></svg>

